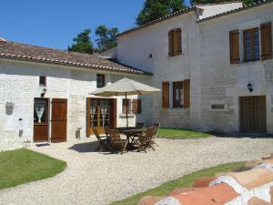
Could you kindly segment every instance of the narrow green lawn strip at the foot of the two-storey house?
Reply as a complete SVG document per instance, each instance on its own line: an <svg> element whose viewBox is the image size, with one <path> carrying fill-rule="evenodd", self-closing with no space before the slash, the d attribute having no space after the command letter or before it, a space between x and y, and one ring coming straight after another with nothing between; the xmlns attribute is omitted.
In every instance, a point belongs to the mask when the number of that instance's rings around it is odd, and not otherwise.
<svg viewBox="0 0 273 205"><path fill-rule="evenodd" d="M160 128L158 132L158 138L208 138L211 135L205 132L189 131L182 128Z"/></svg>

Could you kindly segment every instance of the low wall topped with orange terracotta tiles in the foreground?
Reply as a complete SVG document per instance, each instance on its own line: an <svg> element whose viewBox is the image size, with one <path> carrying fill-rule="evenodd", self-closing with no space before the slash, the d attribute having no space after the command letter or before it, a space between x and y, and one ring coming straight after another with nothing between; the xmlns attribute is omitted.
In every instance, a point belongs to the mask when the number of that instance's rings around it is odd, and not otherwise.
<svg viewBox="0 0 273 205"><path fill-rule="evenodd" d="M273 153L245 167L197 179L192 187L169 196L142 198L138 205L267 205L273 204Z"/></svg>

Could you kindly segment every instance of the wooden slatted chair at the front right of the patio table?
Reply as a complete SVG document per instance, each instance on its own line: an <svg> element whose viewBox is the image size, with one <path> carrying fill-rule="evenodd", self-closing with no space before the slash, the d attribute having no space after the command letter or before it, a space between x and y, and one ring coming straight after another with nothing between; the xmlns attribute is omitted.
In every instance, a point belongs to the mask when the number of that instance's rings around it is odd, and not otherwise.
<svg viewBox="0 0 273 205"><path fill-rule="evenodd" d="M154 149L152 147L152 138L154 135L154 131L155 127L147 128L145 135L136 139L138 151L145 151L147 153L147 149Z"/></svg>

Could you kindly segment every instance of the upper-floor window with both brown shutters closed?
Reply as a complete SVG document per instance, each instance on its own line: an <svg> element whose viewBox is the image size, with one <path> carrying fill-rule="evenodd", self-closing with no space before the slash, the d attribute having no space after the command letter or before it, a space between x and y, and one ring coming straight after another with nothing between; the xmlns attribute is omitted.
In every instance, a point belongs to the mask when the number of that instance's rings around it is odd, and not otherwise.
<svg viewBox="0 0 273 205"><path fill-rule="evenodd" d="M173 29L168 32L168 56L182 54L181 36L181 28Z"/></svg>

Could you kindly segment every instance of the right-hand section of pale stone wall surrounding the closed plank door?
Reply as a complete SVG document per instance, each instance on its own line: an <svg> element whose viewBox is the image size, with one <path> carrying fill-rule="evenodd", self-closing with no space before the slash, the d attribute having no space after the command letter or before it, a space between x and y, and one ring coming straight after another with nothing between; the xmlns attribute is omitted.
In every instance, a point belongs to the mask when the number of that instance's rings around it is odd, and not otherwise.
<svg viewBox="0 0 273 205"><path fill-rule="evenodd" d="M262 5L245 12L219 17L200 26L201 104L204 128L239 131L239 97L266 96L268 133L273 133L273 59L243 62L243 30L273 23L273 5ZM229 34L239 31L241 62L229 63ZM248 91L248 83L254 91ZM225 104L223 110L211 110L211 104Z"/></svg>

